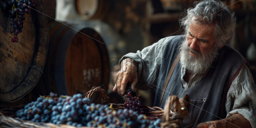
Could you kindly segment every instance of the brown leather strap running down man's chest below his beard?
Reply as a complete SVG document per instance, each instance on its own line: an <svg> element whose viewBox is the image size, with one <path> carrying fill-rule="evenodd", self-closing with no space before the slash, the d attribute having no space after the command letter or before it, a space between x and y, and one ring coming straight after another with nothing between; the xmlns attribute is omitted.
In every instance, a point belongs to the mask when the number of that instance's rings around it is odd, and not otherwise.
<svg viewBox="0 0 256 128"><path fill-rule="evenodd" d="M176 59L174 60L173 64L171 65L171 69L166 77L166 80L165 80L165 83L164 83L164 88L162 90L162 94L161 94L161 99L160 99L160 103L159 103L159 106L161 106L161 103L162 103L162 100L163 100L163 97L164 97L164 93L165 93L165 89L169 83L169 80L171 78L171 75L174 71L174 68L176 67L177 63L179 62L179 59L180 59L180 54L177 55Z"/></svg>

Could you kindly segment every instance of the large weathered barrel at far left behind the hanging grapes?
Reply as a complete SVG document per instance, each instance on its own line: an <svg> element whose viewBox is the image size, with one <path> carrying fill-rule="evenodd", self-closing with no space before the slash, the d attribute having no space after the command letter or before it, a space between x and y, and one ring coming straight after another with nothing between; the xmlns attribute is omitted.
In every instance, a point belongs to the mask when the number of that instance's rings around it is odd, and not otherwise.
<svg viewBox="0 0 256 128"><path fill-rule="evenodd" d="M41 0L25 14L18 42L11 42L10 18L0 9L0 101L13 102L28 94L37 84L47 55L48 22ZM5 103L0 102L0 107Z"/></svg>

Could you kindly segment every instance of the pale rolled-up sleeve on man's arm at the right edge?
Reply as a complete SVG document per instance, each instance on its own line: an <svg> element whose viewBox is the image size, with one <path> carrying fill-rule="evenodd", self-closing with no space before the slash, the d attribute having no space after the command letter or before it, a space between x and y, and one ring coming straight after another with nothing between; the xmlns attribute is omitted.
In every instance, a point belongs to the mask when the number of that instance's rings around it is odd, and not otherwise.
<svg viewBox="0 0 256 128"><path fill-rule="evenodd" d="M227 117L239 113L256 128L256 86L245 65L238 76L233 80L226 100Z"/></svg>

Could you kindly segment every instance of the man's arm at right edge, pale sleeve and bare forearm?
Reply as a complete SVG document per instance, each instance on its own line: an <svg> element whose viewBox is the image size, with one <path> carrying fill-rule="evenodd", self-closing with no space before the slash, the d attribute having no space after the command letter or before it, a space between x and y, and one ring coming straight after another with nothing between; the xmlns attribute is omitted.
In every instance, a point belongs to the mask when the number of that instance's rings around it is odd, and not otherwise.
<svg viewBox="0 0 256 128"><path fill-rule="evenodd" d="M244 66L233 80L225 103L226 119L201 123L199 128L256 128L256 86L248 66ZM234 125L232 125L234 124ZM212 127L210 127L212 126Z"/></svg>

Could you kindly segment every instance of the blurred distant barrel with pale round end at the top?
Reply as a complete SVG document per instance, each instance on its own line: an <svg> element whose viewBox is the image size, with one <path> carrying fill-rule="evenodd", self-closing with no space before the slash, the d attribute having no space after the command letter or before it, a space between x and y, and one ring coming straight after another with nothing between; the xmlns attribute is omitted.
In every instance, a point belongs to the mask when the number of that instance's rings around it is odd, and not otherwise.
<svg viewBox="0 0 256 128"><path fill-rule="evenodd" d="M77 13L84 19L99 19L107 15L110 1L108 0L75 0Z"/></svg>

